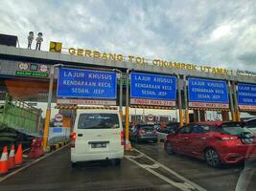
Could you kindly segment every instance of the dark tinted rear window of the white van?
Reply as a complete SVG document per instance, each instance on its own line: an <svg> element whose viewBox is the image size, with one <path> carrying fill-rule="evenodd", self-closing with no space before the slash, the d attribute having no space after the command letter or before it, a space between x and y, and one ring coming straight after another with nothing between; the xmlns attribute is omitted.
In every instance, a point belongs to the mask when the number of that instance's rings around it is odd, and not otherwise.
<svg viewBox="0 0 256 191"><path fill-rule="evenodd" d="M117 129L119 119L116 114L81 114L79 129Z"/></svg>

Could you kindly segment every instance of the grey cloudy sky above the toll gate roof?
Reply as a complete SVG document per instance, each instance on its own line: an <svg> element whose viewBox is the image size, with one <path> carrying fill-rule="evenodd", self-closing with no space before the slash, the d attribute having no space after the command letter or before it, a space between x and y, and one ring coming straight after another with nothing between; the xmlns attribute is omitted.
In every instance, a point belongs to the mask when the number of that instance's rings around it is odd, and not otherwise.
<svg viewBox="0 0 256 191"><path fill-rule="evenodd" d="M0 32L17 35L25 48L30 31L43 32L45 51L53 40L256 71L256 0L1 1Z"/></svg>

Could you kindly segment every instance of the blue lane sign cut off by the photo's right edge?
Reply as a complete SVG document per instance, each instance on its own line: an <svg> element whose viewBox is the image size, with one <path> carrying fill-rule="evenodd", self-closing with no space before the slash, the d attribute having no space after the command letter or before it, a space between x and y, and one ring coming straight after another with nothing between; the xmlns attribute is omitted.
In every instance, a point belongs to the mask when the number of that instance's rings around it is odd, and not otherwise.
<svg viewBox="0 0 256 191"><path fill-rule="evenodd" d="M256 105L256 85L238 84L238 104Z"/></svg>

